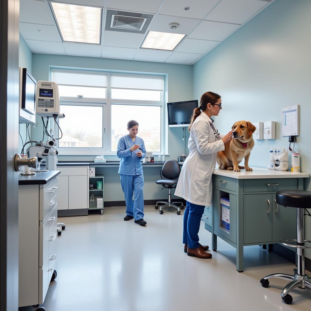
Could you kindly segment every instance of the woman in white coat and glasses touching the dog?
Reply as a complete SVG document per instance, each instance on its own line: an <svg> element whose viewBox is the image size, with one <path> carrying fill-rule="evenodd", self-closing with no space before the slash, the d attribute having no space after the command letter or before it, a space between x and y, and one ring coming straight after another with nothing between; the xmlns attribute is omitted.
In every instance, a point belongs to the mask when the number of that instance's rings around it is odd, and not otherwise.
<svg viewBox="0 0 311 311"><path fill-rule="evenodd" d="M220 135L211 116L221 109L221 97L213 92L201 96L200 106L193 110L189 126L189 156L183 162L175 195L187 201L183 214L183 244L188 256L211 258L205 252L208 246L199 243L198 232L205 206L212 203L211 177L216 165L217 152L225 150L232 132Z"/></svg>

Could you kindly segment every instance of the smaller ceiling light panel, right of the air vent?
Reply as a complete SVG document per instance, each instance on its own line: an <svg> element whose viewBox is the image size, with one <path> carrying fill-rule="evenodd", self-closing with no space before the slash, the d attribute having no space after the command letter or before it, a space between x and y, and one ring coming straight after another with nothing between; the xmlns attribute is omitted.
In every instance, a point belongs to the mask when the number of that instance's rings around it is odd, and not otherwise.
<svg viewBox="0 0 311 311"><path fill-rule="evenodd" d="M173 51L185 36L169 32L149 31L141 48Z"/></svg>

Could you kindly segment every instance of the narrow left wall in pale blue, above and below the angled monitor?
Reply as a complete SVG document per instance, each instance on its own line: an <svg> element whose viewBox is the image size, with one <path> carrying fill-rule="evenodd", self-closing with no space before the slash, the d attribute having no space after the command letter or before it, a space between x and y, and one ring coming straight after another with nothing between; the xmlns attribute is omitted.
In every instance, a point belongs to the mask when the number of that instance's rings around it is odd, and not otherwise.
<svg viewBox="0 0 311 311"><path fill-rule="evenodd" d="M30 51L28 45L20 35L19 38L19 54L18 54L18 65L19 67L27 68L30 73L32 72L32 52ZM31 137L31 131L32 126L29 126L29 133ZM23 138L23 141L25 143L26 140L26 124L20 124L19 125L19 132L21 134L21 137ZM21 148L23 146L21 137L18 136L18 152L21 151ZM29 138L27 139L29 140Z"/></svg>

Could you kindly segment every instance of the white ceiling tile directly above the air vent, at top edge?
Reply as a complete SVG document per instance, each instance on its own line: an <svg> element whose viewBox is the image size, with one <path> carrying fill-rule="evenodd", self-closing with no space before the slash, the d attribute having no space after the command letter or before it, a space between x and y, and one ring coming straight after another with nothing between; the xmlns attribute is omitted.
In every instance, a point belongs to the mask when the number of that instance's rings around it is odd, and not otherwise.
<svg viewBox="0 0 311 311"><path fill-rule="evenodd" d="M161 2L162 0L108 0L107 7L122 11L134 11L155 14L158 11Z"/></svg>

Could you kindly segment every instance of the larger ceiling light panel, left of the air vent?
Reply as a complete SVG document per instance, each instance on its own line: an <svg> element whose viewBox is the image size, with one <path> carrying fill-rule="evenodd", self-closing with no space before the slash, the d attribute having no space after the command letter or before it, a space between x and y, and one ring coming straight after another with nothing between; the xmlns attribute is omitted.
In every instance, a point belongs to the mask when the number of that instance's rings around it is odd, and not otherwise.
<svg viewBox="0 0 311 311"><path fill-rule="evenodd" d="M100 44L101 8L51 2L63 41Z"/></svg>

